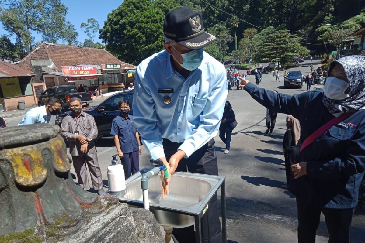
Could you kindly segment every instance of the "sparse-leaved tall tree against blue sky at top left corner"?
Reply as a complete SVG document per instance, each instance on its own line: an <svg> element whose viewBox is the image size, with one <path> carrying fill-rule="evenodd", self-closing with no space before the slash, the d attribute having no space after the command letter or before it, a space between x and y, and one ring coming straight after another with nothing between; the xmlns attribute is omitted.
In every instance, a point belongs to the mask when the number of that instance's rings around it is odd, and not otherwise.
<svg viewBox="0 0 365 243"><path fill-rule="evenodd" d="M6 0L0 8L4 29L15 36L28 51L32 50L32 32L42 34L47 42L77 42L75 27L66 21L68 8L60 0ZM4 7L5 6L5 7Z"/></svg>

